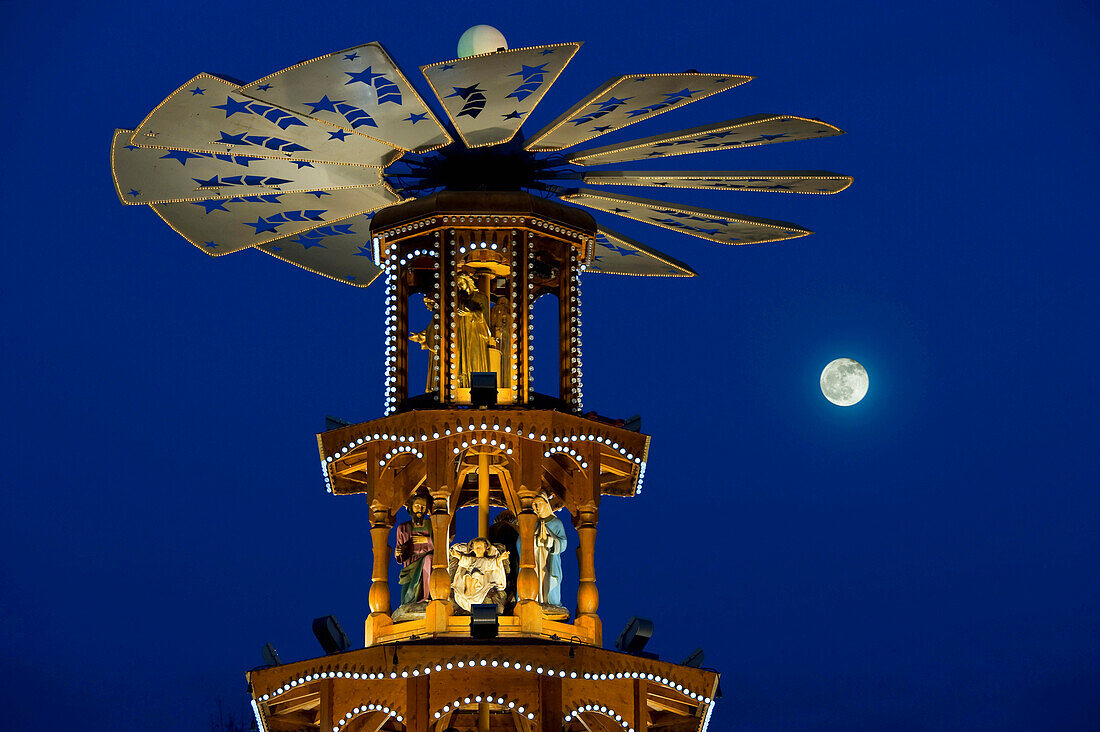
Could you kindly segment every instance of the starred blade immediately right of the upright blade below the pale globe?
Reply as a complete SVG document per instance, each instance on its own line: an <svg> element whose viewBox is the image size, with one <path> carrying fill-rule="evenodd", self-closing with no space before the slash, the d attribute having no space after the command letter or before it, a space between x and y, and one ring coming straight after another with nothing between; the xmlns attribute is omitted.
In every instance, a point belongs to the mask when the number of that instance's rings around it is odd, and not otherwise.
<svg viewBox="0 0 1100 732"><path fill-rule="evenodd" d="M536 132L525 148L570 148L750 80L751 76L694 72L616 76Z"/></svg>

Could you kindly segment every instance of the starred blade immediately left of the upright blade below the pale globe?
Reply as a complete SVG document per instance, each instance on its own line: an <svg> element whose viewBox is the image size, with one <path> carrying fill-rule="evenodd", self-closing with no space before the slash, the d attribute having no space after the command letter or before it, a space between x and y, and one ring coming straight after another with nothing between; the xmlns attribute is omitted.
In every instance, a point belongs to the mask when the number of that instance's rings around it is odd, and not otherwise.
<svg viewBox="0 0 1100 732"><path fill-rule="evenodd" d="M240 91L400 150L425 153L451 142L380 43L304 61Z"/></svg>

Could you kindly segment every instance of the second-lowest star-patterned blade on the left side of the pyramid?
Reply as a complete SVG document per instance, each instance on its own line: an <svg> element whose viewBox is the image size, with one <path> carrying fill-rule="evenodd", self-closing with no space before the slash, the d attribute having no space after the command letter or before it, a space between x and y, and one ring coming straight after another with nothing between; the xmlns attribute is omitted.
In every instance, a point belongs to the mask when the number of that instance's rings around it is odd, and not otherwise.
<svg viewBox="0 0 1100 732"><path fill-rule="evenodd" d="M156 204L153 210L184 239L217 256L318 227L333 226L339 231L345 219L399 199L383 184L370 188ZM302 244L306 249L311 245L320 244Z"/></svg>

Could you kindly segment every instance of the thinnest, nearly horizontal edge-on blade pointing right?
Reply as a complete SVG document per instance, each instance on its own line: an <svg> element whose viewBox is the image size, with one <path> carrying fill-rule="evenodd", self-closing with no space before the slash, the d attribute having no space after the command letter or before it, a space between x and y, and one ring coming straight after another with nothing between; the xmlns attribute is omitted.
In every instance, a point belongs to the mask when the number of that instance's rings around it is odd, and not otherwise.
<svg viewBox="0 0 1100 732"><path fill-rule="evenodd" d="M834 194L851 185L850 175L828 171L600 171L581 179L597 186L660 186L714 190Z"/></svg>

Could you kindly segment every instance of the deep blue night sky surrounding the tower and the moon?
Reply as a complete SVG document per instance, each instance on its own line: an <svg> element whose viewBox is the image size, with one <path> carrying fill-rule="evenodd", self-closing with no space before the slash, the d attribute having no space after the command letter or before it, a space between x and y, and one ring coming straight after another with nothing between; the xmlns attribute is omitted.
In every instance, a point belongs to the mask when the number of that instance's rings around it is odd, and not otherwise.
<svg viewBox="0 0 1100 732"><path fill-rule="evenodd" d="M1100 729L1096 6L0 6L3 725L204 729L263 643L315 656L312 618L361 640L367 612L366 506L324 493L314 433L381 414L381 287L205 256L118 203L111 131L199 72L369 41L418 79L487 22L585 42L528 131L686 68L758 78L622 138L848 131L663 164L853 174L661 192L813 237L608 221L702 273L585 286L586 405L653 436L644 494L601 512L608 643L639 614L662 657L703 646L715 730ZM870 372L857 407L818 391L839 356Z"/></svg>

